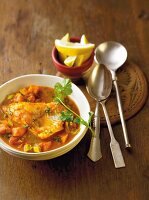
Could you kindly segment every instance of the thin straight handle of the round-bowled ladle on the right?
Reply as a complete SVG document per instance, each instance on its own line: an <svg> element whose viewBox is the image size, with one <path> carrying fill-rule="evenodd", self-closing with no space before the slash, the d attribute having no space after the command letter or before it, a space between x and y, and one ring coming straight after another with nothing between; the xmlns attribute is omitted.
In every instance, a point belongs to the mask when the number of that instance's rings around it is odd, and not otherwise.
<svg viewBox="0 0 149 200"><path fill-rule="evenodd" d="M129 139L128 139L127 128L126 128L126 123L125 123L125 120L124 120L122 103L121 103L121 98L120 98L120 94L119 94L119 89L118 89L116 78L113 80L113 84L114 84L115 90L116 90L116 98L117 98L117 104L118 104L118 109L119 109L119 114L120 114L122 129L123 129L123 135L124 135L124 140L125 140L125 147L126 148L130 148L131 145L130 145Z"/></svg>

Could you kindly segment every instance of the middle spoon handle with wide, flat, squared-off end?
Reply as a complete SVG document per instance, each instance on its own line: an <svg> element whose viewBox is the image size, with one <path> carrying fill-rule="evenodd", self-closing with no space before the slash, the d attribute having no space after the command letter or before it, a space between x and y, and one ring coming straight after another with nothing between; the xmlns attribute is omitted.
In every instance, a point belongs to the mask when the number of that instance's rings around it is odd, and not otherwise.
<svg viewBox="0 0 149 200"><path fill-rule="evenodd" d="M106 109L106 106L105 106L105 101L101 101L100 103L103 107L103 111L104 111L104 114L105 114L105 118L106 118L106 121L107 121L109 133L110 133L110 138L111 138L110 148L111 148L111 153L112 153L112 157L113 157L113 160L114 160L115 168L125 167L125 162L124 162L124 159L123 159L123 155L122 155L119 143L116 141L114 134L113 134L109 115L108 115L108 112L107 112L107 109Z"/></svg>

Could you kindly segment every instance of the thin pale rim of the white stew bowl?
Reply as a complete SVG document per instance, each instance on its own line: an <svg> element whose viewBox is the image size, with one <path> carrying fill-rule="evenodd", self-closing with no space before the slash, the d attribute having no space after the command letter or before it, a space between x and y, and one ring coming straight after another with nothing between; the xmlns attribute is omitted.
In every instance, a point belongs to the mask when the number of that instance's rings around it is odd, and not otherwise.
<svg viewBox="0 0 149 200"><path fill-rule="evenodd" d="M15 78L13 78L13 79L11 79L11 80L8 80L7 82L5 82L5 83L3 83L2 85L0 85L0 89L1 88L3 88L3 87L6 87L7 85L9 85L9 84L11 84L12 82L14 82L14 81L17 81L17 80L19 80L19 79L24 79L24 78L27 78L27 77L47 77L47 78L56 78L56 79L58 79L59 81L62 81L64 78L62 78L62 77L58 77L58 76L55 76L55 75L46 75L46 74L27 74L27 75L21 75L21 76L18 76L18 77L15 77ZM47 86L48 87L48 86ZM49 87L52 87L52 86L50 86L49 85ZM80 88L79 87L77 87L74 83L72 83L72 87L73 88L75 88L75 89L77 89L78 90L78 92L80 92L80 94L81 95L83 95L83 97L84 97L84 100L86 101L86 106L87 106L87 109L88 109L88 112L90 111L90 105L89 105L89 102L88 102L88 100L87 100L87 98L86 98L86 96L83 94L83 92L80 90ZM6 94L7 95L7 94ZM70 96L70 98L72 98L71 97L71 95L69 95ZM73 98L72 98L73 99ZM1 102L0 102L1 103ZM81 131L81 129L82 129L82 131ZM23 151L19 151L19 150L17 150L17 149L15 149L15 148L13 148L13 147L11 147L10 145L8 145L4 140L2 140L1 138L0 138L0 148L2 148L3 150L6 150L6 151L8 151L8 152L10 152L10 153L12 153L12 152L15 152L15 155L17 155L17 156L27 156L27 157L37 157L37 156L42 156L42 155L48 155L48 154L52 154L52 153L59 153L59 152L61 152L61 151L64 151L65 150L65 148L71 148L71 146L73 146L71 149L73 149L74 148L74 142L75 141L77 141L79 138L80 138L80 140L84 137L84 135L85 135L85 133L86 133L86 131L87 131L87 127L85 127L84 125L80 125L80 131L74 136L74 138L72 139L72 140L70 140L68 143L66 143L65 145L63 145L63 146L61 146L61 147L58 147L58 148L56 148L56 149L52 149L52 150L49 150L49 151L45 151L45 152L39 152L39 153L32 153L32 152L23 152ZM80 134L79 134L80 133ZM77 144L79 143L79 141L77 142ZM76 144L76 145L77 145ZM76 146L75 145L75 146ZM70 150L71 150L70 149ZM70 150L68 150L68 151L70 151ZM64 153L62 153L62 154L64 154ZM62 155L62 154L60 154L60 155ZM58 157L59 155L57 155L57 156L54 156L54 157Z"/></svg>

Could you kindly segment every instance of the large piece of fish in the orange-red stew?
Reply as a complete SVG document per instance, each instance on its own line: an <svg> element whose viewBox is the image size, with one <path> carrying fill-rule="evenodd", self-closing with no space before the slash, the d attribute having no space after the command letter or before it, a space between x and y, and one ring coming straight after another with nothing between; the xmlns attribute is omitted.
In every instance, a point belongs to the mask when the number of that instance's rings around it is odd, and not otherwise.
<svg viewBox="0 0 149 200"><path fill-rule="evenodd" d="M56 102L12 103L3 106L2 110L13 124L28 126L29 131L41 139L46 139L64 129L60 115L65 108Z"/></svg>

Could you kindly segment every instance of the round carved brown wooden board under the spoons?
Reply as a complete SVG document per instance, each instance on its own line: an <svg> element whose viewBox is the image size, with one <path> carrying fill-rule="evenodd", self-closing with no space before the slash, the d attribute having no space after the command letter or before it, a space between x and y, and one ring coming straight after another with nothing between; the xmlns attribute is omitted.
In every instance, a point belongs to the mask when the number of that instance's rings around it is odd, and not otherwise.
<svg viewBox="0 0 149 200"><path fill-rule="evenodd" d="M148 96L147 81L141 69L134 63L125 63L117 71L118 86L123 106L125 120L134 116L144 105ZM120 121L115 89L106 103L111 123ZM101 123L105 124L105 117L101 109Z"/></svg>

